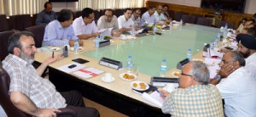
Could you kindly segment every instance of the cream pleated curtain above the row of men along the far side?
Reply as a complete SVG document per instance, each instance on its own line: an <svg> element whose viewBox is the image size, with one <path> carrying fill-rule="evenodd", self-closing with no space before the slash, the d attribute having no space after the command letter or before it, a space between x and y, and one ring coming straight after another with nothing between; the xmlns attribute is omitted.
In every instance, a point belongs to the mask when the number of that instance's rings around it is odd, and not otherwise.
<svg viewBox="0 0 256 117"><path fill-rule="evenodd" d="M77 10L83 8L106 9L106 8L142 8L144 0L79 0Z"/></svg>

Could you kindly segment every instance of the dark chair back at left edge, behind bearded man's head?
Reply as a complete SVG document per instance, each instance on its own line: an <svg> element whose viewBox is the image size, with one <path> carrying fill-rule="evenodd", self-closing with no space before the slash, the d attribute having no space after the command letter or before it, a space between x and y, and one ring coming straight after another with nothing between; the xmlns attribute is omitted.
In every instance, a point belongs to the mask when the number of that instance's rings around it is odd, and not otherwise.
<svg viewBox="0 0 256 117"><path fill-rule="evenodd" d="M3 60L7 55L7 44L9 36L14 34L15 31L3 31L0 32L0 60Z"/></svg>

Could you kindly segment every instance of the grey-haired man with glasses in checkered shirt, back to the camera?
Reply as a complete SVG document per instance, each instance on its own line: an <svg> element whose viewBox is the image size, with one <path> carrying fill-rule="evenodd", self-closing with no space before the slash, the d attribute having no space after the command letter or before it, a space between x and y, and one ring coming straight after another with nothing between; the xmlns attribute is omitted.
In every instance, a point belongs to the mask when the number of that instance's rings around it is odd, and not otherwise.
<svg viewBox="0 0 256 117"><path fill-rule="evenodd" d="M167 96L162 112L181 117L223 117L221 95L216 86L208 84L209 77L206 64L200 62L185 64L179 76L179 88L170 94L160 90L164 96Z"/></svg>

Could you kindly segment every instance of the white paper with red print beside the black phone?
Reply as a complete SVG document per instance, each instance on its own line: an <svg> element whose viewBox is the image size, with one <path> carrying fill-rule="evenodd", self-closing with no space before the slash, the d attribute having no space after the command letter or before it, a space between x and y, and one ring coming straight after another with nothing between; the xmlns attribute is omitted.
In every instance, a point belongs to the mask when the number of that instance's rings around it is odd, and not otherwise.
<svg viewBox="0 0 256 117"><path fill-rule="evenodd" d="M72 69L68 68L68 66L72 65L72 64L75 64L77 65L76 67L73 67ZM66 64L66 65L63 65L61 67L58 67L57 70L61 70L63 72L66 72L66 73L71 73L73 71L76 71L76 70L80 70L80 69L83 69L85 68L85 66L83 64L79 64L79 63L71 63L71 64Z"/></svg>

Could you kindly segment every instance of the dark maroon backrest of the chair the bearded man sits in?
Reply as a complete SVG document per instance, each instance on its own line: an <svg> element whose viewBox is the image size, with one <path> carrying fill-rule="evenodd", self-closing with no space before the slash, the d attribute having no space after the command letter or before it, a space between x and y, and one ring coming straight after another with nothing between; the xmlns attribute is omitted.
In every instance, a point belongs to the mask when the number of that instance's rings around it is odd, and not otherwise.
<svg viewBox="0 0 256 117"><path fill-rule="evenodd" d="M10 78L6 70L3 69L2 62L0 61L0 104L3 107L5 113L9 117L32 117L20 109L17 109L15 105L10 101L9 97L9 83Z"/></svg>

